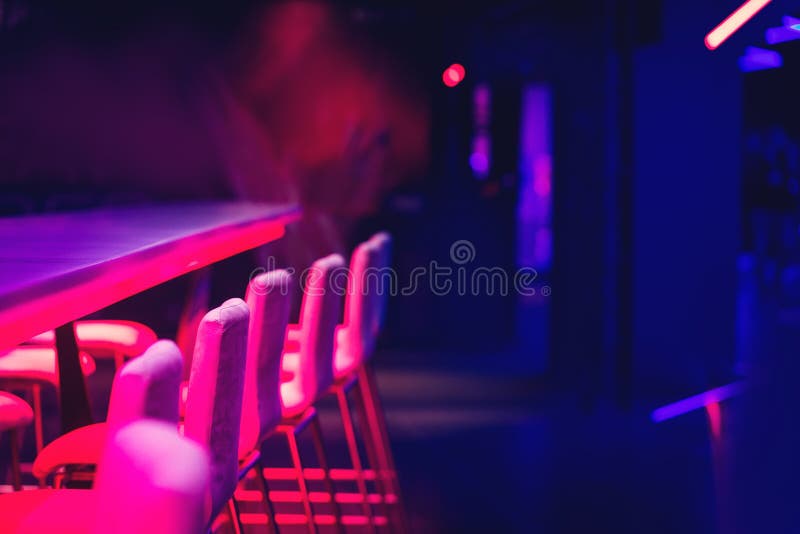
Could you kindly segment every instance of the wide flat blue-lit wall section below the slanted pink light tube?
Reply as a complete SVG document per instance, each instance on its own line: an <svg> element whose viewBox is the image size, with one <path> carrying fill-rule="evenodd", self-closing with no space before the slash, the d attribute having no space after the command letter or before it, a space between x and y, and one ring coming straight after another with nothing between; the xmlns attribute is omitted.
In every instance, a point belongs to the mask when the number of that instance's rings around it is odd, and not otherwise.
<svg viewBox="0 0 800 534"><path fill-rule="evenodd" d="M635 56L634 362L643 395L702 391L732 371L742 75L737 47L702 44L718 7L667 2L664 39Z"/></svg>

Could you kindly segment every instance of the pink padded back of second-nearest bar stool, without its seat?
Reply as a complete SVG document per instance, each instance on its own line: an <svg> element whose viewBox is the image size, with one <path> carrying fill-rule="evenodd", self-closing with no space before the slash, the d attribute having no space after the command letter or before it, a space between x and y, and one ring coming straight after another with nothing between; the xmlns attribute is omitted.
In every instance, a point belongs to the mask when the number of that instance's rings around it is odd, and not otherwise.
<svg viewBox="0 0 800 534"><path fill-rule="evenodd" d="M178 392L183 356L172 341L155 342L140 357L120 367L111 386L108 427L143 418L178 423Z"/></svg>

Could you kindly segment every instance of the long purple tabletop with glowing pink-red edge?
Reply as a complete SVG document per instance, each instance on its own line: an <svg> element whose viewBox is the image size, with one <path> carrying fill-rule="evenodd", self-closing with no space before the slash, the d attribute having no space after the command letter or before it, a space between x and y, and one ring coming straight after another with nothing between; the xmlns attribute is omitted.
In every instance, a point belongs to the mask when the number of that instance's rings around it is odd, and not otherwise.
<svg viewBox="0 0 800 534"><path fill-rule="evenodd" d="M281 237L291 204L192 202L0 218L0 350Z"/></svg>

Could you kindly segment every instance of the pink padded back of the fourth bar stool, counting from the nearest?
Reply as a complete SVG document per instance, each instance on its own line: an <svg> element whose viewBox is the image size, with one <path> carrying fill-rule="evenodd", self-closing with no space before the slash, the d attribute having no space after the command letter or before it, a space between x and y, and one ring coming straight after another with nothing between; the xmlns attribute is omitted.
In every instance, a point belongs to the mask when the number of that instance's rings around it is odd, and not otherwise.
<svg viewBox="0 0 800 534"><path fill-rule="evenodd" d="M247 338L239 457L255 450L281 420L281 355L289 322L292 276L270 271L247 286L250 329Z"/></svg>

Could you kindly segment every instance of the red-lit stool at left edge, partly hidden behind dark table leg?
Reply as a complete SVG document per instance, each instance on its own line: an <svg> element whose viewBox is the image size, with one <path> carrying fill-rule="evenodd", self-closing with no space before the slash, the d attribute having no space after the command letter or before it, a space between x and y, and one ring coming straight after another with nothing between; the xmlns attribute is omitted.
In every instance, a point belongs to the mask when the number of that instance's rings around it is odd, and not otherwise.
<svg viewBox="0 0 800 534"><path fill-rule="evenodd" d="M95 371L94 359L80 353L83 374ZM36 452L44 447L42 430L42 385L58 389L58 356L50 347L22 346L0 353L0 385L7 390L23 390L33 397L34 434Z"/></svg>

